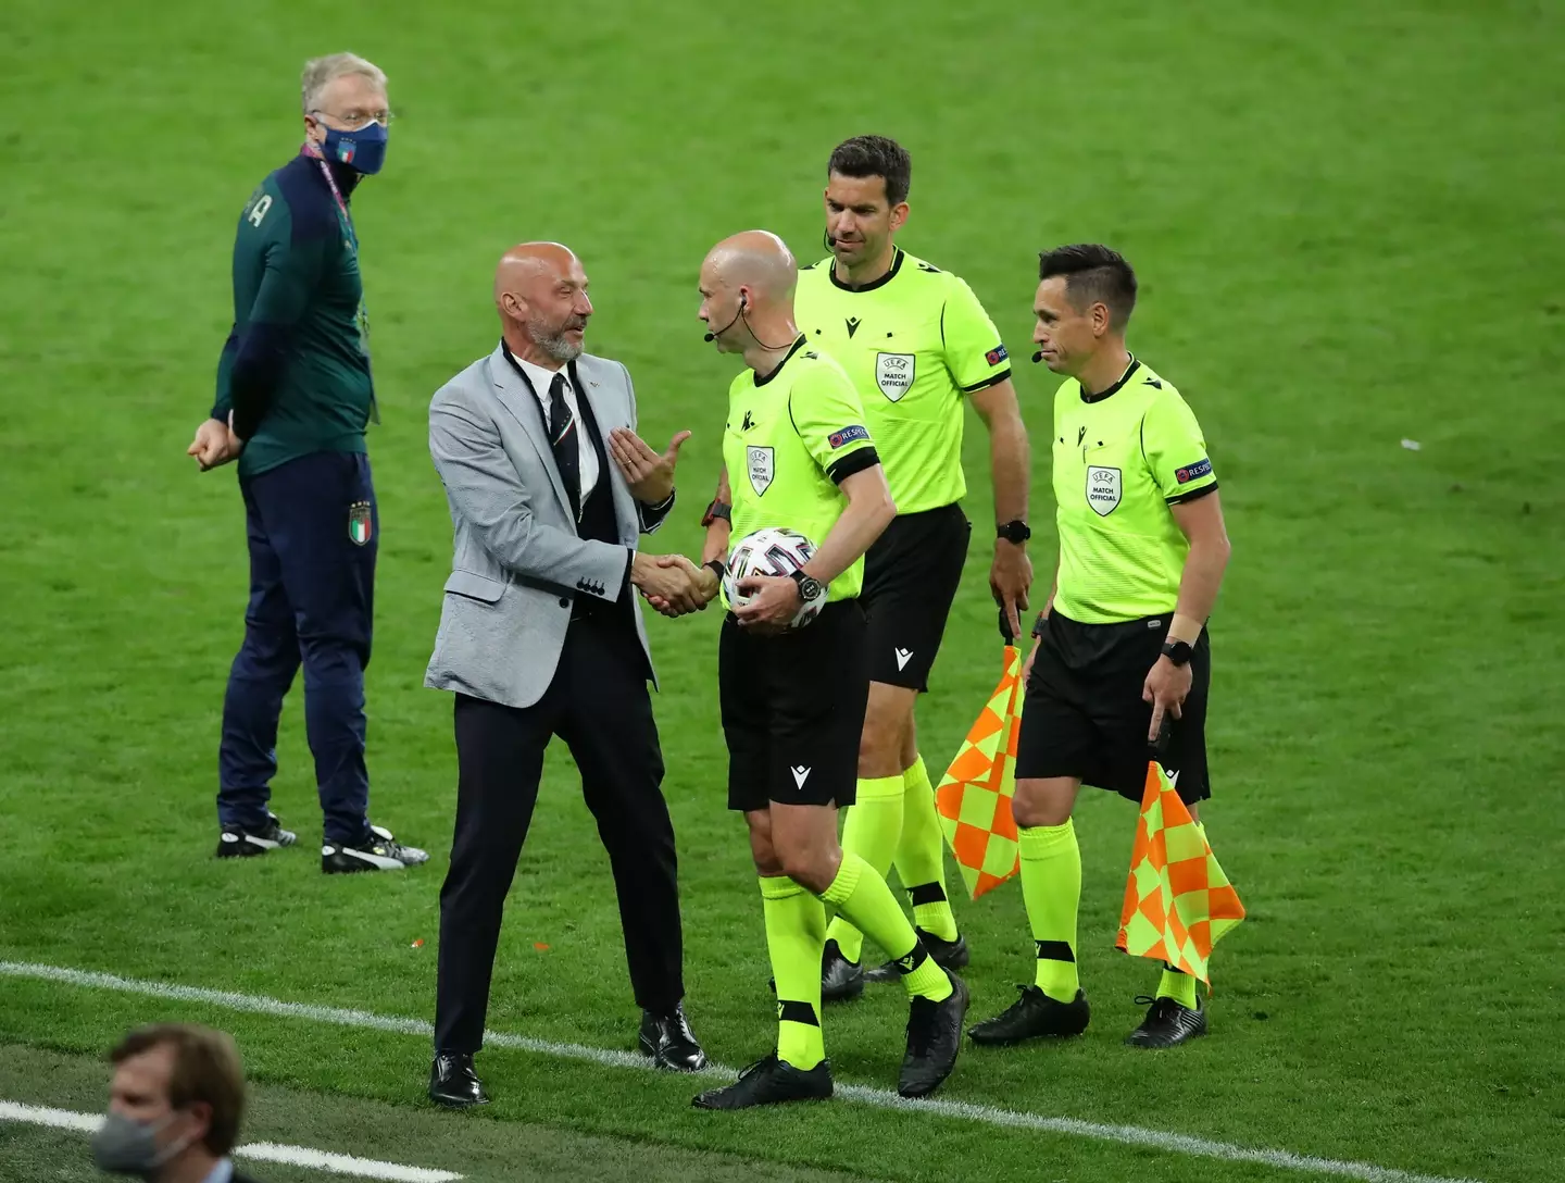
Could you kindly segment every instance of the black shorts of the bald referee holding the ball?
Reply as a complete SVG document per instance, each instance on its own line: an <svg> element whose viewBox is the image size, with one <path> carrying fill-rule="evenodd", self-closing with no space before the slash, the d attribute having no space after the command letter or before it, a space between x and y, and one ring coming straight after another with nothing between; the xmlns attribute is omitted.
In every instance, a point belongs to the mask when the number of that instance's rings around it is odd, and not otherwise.
<svg viewBox="0 0 1565 1183"><path fill-rule="evenodd" d="M757 637L729 615L717 642L728 807L853 804L870 698L864 609L826 604L797 632Z"/></svg>

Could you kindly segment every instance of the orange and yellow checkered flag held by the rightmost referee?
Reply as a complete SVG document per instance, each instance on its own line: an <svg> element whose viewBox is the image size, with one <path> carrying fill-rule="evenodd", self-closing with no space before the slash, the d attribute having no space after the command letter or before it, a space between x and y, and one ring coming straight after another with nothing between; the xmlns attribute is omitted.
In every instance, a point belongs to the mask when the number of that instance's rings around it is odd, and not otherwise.
<svg viewBox="0 0 1565 1183"><path fill-rule="evenodd" d="M1218 865L1207 836L1158 762L1147 760L1114 948L1166 961L1210 987L1211 947L1243 919L1239 894Z"/></svg>

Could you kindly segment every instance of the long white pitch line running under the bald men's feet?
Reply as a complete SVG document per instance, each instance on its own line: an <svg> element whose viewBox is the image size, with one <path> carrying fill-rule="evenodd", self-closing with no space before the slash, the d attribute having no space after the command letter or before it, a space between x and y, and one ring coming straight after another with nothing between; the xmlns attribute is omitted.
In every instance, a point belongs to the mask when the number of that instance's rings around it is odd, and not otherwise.
<svg viewBox="0 0 1565 1183"><path fill-rule="evenodd" d="M205 1003L230 1011L247 1011L250 1014L271 1014L282 1019L307 1019L318 1023L336 1023L340 1027L365 1027L376 1031L396 1031L399 1034L434 1036L434 1027L423 1019L401 1019L371 1011L355 1011L340 1006L316 1006L313 1003L291 1003L282 998L269 998L264 994L235 994L232 991L208 991L199 986L172 986L161 981L144 981L139 978L121 978L113 973L92 973L88 970L64 969L59 965L39 965L25 961L0 961L0 976L34 978L41 981L59 981L70 986L88 986L122 994L141 994L152 998L175 998L178 1001ZM610 1052L601 1047L585 1047L582 1044L556 1044L548 1039L529 1039L527 1036L507 1034L504 1031L485 1031L485 1047L507 1047L520 1052L534 1052L562 1059L585 1059L607 1067L629 1067L643 1072L654 1070L645 1056L629 1052ZM734 1069L714 1064L698 1075L732 1080ZM1229 1163L1257 1163L1279 1167L1282 1170L1297 1170L1310 1175L1332 1175L1337 1178L1352 1178L1360 1183L1479 1183L1473 1178L1448 1178L1443 1175L1421 1175L1412 1170L1382 1167L1374 1163L1352 1163L1337 1158L1316 1158L1313 1155L1296 1155L1290 1150L1266 1150L1260 1147L1238 1145L1235 1142L1219 1142L1210 1138L1194 1138L1189 1134L1167 1133L1164 1130L1149 1130L1139 1125L1106 1125L1102 1122L1083 1122L1074 1117L1044 1117L1036 1113L1020 1109L1000 1109L991 1105L972 1105L967 1102L952 1102L939 1098L908 1100L887 1089L869 1088L864 1084L839 1084L837 1095L861 1105L878 1109L900 1109L905 1113L931 1113L956 1120L981 1122L984 1125L1003 1127L1008 1130L1034 1130L1038 1133L1067 1134L1072 1138L1089 1138L1099 1142L1117 1142L1121 1145L1139 1145L1152 1150L1164 1150L1175 1155L1191 1155L1196 1158L1221 1158Z"/></svg>

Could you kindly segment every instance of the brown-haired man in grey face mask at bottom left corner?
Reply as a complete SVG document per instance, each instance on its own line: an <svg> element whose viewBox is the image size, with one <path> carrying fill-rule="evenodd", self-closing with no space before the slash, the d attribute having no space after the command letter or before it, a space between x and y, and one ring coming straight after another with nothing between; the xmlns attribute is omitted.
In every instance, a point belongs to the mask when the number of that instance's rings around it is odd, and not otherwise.
<svg viewBox="0 0 1565 1183"><path fill-rule="evenodd" d="M233 1039L186 1023L144 1027L110 1061L108 1116L92 1134L102 1170L149 1183L254 1183L228 1160L244 1116Z"/></svg>

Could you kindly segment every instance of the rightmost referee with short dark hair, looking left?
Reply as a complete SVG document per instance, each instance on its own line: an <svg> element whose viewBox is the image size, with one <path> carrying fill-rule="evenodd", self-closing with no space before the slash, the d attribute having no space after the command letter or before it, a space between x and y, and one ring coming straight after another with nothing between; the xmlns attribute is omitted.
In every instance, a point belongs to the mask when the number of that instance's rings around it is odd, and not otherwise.
<svg viewBox="0 0 1565 1183"><path fill-rule="evenodd" d="M972 1028L978 1044L1086 1030L1070 822L1081 784L1139 801L1157 743L1197 826L1211 795L1205 623L1229 538L1205 438L1178 391L1125 347L1136 275L1117 252L1060 247L1039 257L1038 275L1038 358L1066 376L1053 438L1060 566L1034 626L1013 798L1038 975ZM1166 967L1125 1042L1163 1048L1205 1030L1196 980Z"/></svg>

